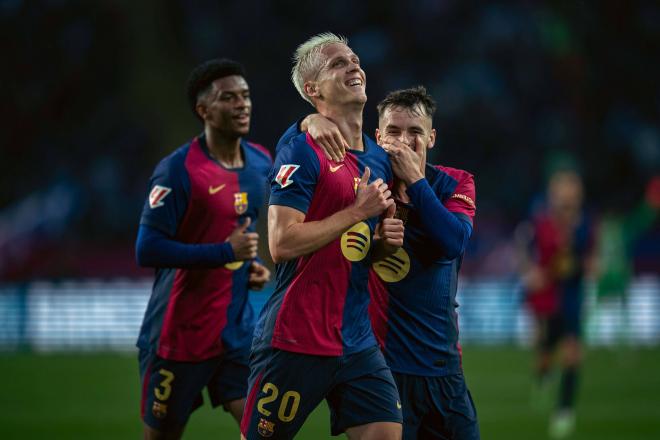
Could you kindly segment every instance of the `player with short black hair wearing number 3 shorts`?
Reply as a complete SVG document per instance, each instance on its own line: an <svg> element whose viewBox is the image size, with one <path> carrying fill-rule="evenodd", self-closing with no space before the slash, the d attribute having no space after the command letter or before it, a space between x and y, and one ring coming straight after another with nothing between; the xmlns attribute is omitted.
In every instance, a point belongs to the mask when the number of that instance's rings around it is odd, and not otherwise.
<svg viewBox="0 0 660 440"><path fill-rule="evenodd" d="M147 439L180 438L205 387L240 422L255 324L248 288L270 277L254 230L272 160L243 139L252 109L244 69L207 61L187 92L204 132L156 167L136 244L138 263L156 268L137 344Z"/></svg>

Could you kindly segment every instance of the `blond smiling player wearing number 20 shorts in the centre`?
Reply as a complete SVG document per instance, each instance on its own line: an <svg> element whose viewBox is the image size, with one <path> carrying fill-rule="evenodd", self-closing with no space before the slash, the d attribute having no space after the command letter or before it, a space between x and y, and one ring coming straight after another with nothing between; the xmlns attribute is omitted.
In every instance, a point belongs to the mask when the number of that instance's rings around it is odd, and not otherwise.
<svg viewBox="0 0 660 440"><path fill-rule="evenodd" d="M273 167L268 241L277 285L255 330L244 438L293 438L325 398L332 434L401 437L392 374L369 323L371 254L403 241L400 220L378 216L394 201L387 153L362 133L366 76L345 39L319 34L296 50L293 82L337 122L351 150L328 160L311 137L285 137ZM289 129L295 132L294 125ZM392 227L392 229L388 229Z"/></svg>

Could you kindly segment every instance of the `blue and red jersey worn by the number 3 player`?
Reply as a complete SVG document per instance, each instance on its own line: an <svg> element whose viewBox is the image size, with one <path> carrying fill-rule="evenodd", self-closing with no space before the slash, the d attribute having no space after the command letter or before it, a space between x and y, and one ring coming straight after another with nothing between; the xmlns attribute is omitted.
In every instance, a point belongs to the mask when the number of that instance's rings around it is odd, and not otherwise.
<svg viewBox="0 0 660 440"><path fill-rule="evenodd" d="M270 153L241 141L244 166L226 169L204 136L163 159L150 180L141 225L181 243L222 243L265 204ZM157 269L138 347L165 358L200 361L249 351L255 316L248 302L249 262L213 269Z"/></svg>

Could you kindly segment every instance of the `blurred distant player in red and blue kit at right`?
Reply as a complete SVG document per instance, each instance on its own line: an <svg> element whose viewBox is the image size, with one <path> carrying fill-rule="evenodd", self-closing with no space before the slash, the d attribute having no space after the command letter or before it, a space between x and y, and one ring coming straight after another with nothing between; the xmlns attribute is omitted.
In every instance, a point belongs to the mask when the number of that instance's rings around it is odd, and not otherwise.
<svg viewBox="0 0 660 440"><path fill-rule="evenodd" d="M583 198L582 179L575 171L555 171L546 209L516 232L527 302L537 326L533 399L544 398L553 356L561 349L559 400L549 427L553 438L570 435L575 426L584 280L592 271L593 228Z"/></svg>

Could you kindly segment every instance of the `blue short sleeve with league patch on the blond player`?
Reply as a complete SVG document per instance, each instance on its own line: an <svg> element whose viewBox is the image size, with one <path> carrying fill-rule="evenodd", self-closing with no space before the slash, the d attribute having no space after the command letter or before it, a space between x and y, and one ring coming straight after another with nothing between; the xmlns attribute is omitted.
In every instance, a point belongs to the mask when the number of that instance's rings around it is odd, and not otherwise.
<svg viewBox="0 0 660 440"><path fill-rule="evenodd" d="M306 135L298 135L275 156L269 177L269 205L288 206L307 214L320 169L318 156L307 144Z"/></svg>

